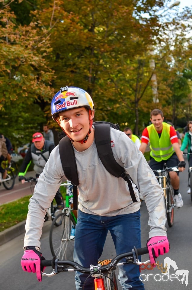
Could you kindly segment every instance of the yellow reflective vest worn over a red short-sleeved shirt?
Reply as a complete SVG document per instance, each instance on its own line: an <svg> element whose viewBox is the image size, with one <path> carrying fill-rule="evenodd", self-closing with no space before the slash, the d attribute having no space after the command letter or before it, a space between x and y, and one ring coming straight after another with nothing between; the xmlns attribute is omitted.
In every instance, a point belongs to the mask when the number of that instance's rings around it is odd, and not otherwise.
<svg viewBox="0 0 192 290"><path fill-rule="evenodd" d="M147 126L151 149L150 156L153 157L157 162L167 160L175 152L171 144L169 134L171 125L165 122L163 122L162 124L163 129L160 138L153 124Z"/></svg>

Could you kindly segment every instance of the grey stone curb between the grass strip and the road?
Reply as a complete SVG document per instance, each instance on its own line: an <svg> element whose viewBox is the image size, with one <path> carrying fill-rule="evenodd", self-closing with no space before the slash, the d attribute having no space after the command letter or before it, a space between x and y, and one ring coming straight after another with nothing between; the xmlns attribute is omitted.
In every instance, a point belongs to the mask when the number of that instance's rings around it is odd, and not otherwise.
<svg viewBox="0 0 192 290"><path fill-rule="evenodd" d="M26 220L0 232L0 246L25 232Z"/></svg>

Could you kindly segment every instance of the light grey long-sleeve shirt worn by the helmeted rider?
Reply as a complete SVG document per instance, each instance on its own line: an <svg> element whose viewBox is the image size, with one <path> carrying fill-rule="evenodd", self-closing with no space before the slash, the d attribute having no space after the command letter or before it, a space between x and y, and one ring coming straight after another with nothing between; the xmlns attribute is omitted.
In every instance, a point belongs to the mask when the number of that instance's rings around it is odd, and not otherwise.
<svg viewBox="0 0 192 290"><path fill-rule="evenodd" d="M139 191L145 198L149 211L149 237L166 236L166 214L163 190L149 167L143 154L126 134L111 128L111 147L117 163L125 168L133 180L137 203L133 203L127 182L112 176L99 159L95 142L83 152L75 150L78 170L78 208L86 213L101 216L115 216L133 213L140 208ZM67 154L67 152L66 152ZM50 154L43 173L30 198L26 221L25 246L40 247L40 237L46 209L49 208L55 192L64 175L56 146Z"/></svg>

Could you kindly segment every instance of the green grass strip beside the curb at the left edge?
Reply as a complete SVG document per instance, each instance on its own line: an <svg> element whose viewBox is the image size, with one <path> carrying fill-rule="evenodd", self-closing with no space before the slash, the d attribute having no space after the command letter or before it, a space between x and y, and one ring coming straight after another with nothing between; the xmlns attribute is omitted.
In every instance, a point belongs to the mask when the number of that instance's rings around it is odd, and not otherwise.
<svg viewBox="0 0 192 290"><path fill-rule="evenodd" d="M24 221L31 195L0 205L0 232Z"/></svg>

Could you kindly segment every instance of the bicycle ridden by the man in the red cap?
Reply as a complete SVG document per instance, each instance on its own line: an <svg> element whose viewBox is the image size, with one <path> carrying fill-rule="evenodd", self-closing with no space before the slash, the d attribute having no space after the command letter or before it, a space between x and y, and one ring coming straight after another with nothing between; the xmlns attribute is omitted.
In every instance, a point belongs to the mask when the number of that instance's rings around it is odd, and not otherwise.
<svg viewBox="0 0 192 290"><path fill-rule="evenodd" d="M36 185L37 180L38 180L38 177L37 177L37 178L34 178L34 177L28 177L28 178L26 178L26 177L24 177L24 179L25 179L25 182L31 182L30 189L31 189L31 193L33 194L33 193L34 193L35 185ZM62 201L63 201L63 200L62 200ZM46 213L46 215L45 215L44 220L45 220L45 221L48 221L49 218L50 218L50 219L53 221L54 218L56 218L57 214L60 213L60 211L61 211L61 210L59 210L59 209L57 208L57 205L54 205L54 202L52 201L52 202L51 202L51 205L50 205L50 207L48 208L48 211L47 211L47 213ZM57 222L56 222L55 225L56 225L56 226L59 226L60 223L57 223Z"/></svg>

